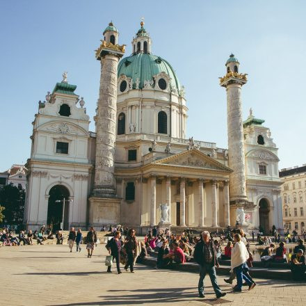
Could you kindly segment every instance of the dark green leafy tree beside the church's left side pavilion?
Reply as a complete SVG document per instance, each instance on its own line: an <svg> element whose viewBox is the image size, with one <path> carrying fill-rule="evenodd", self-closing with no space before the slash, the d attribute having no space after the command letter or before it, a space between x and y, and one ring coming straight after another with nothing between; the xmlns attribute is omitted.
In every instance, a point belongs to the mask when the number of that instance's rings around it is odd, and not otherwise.
<svg viewBox="0 0 306 306"><path fill-rule="evenodd" d="M21 225L24 219L25 191L22 187L12 184L3 186L0 191L0 205L6 209L3 223Z"/></svg>

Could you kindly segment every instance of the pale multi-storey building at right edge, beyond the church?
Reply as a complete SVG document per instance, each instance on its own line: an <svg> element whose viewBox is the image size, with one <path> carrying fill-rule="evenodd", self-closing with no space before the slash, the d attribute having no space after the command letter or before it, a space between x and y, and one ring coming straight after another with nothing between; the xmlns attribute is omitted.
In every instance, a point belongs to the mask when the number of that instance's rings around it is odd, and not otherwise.
<svg viewBox="0 0 306 306"><path fill-rule="evenodd" d="M306 164L280 170L284 230L306 230Z"/></svg>

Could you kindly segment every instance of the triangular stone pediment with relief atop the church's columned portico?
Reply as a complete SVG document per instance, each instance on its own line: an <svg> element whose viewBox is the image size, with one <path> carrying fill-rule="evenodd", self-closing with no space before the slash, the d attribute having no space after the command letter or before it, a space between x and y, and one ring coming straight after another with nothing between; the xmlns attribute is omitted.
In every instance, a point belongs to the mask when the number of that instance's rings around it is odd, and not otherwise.
<svg viewBox="0 0 306 306"><path fill-rule="evenodd" d="M154 164L232 172L227 166L224 166L222 163L219 163L196 149L175 154L165 159L159 159L159 161L155 161Z"/></svg>

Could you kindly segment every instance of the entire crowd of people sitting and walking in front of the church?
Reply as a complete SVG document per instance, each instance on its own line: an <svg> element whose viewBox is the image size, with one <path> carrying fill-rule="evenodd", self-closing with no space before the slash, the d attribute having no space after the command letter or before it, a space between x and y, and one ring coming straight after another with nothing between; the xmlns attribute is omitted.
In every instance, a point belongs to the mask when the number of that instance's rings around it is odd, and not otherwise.
<svg viewBox="0 0 306 306"><path fill-rule="evenodd" d="M216 270L220 260L228 260L231 262L230 278L225 282L232 284L234 278L237 283L234 287L235 292L241 292L242 286L248 286L251 290L256 286L254 280L248 273L252 266L252 253L250 252L250 243L247 241L243 230L236 228L234 230L227 228L222 232L212 235L209 232L202 234L194 234L192 230L184 230L182 234L173 234L169 229L152 228L145 235L144 241L136 238L134 229L119 227L102 227L101 231L108 231L113 234L113 238L109 239L106 249L112 259L116 261L118 274L120 263L124 265L124 269L134 273L134 265L141 262L145 257L156 255L156 268L168 268L186 261L195 261L200 265L200 280L198 283L199 296L204 296L204 277L208 273L214 291L217 297L223 295L220 287L218 287ZM286 233L285 236L288 236ZM252 232L252 241L254 241L254 232ZM294 233L293 233L293 236ZM70 252L76 245L76 251L81 252L81 244L86 243L88 258L92 257L97 243L97 233L91 227L85 237L81 230L70 229L67 237L63 231L58 230L53 234L51 227L46 228L45 225L40 230L32 232L20 231L16 236L9 229L3 229L0 232L0 241L3 245L33 245L33 243L44 244L47 239L56 239L57 244L63 244L63 240L67 238L67 244ZM275 243L280 239L275 234ZM289 263L293 275L293 280L305 280L305 245L303 239L298 236L298 245L294 248L288 257L286 245L283 241L276 244L273 243L270 236L257 236L257 245L265 246L261 250L260 258L264 263L277 262ZM224 247L225 246L225 247ZM224 248L223 248L224 247ZM108 265L107 272L111 273L111 265ZM244 283L243 283L244 280Z"/></svg>

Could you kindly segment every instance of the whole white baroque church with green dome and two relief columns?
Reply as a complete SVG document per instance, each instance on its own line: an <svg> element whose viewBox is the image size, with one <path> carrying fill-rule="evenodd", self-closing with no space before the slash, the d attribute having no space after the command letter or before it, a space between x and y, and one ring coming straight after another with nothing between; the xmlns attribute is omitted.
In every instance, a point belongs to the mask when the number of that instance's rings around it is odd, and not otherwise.
<svg viewBox="0 0 306 306"><path fill-rule="evenodd" d="M152 53L143 22L123 57L110 23L96 50L101 62L95 132L77 86L56 83L39 103L26 163L24 220L37 229L124 225L147 232L166 224L217 230L282 229L277 148L252 112L243 122L239 61L231 55L227 90L229 147L186 139L188 103L175 70Z"/></svg>

